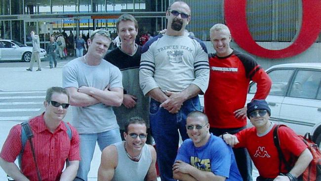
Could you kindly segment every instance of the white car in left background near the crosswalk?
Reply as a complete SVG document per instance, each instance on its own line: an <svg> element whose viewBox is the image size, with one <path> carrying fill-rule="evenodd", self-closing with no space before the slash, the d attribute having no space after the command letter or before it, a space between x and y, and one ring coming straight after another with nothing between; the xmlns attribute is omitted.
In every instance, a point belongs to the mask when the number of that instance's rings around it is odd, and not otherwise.
<svg viewBox="0 0 321 181"><path fill-rule="evenodd" d="M29 62L32 46L23 45L14 40L0 40L0 60L22 60ZM40 59L46 56L46 50L40 48Z"/></svg>

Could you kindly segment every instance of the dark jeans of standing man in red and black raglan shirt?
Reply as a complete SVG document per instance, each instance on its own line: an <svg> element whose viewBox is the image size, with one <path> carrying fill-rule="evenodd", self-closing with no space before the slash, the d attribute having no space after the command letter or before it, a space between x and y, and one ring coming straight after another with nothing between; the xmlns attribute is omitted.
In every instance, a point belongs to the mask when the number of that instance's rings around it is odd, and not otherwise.
<svg viewBox="0 0 321 181"><path fill-rule="evenodd" d="M230 133L236 134L241 130L245 129L242 128L230 128L230 129L220 129L220 128L210 128L209 132L215 136L220 136L223 133ZM243 181L252 181L252 161L251 157L247 152L246 148L233 148L233 152L235 155L235 160L237 162L240 174L242 176Z"/></svg>

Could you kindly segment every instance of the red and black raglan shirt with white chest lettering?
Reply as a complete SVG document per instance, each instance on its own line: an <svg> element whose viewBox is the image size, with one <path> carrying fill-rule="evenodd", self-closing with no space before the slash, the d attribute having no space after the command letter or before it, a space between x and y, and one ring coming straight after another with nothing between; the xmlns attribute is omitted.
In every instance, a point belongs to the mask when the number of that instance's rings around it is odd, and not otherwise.
<svg viewBox="0 0 321 181"><path fill-rule="evenodd" d="M257 83L253 99L265 99L272 85L270 77L251 56L236 50L226 57L208 56L210 75L204 106L210 127L244 127L246 118L236 119L234 111L244 107L249 82Z"/></svg>

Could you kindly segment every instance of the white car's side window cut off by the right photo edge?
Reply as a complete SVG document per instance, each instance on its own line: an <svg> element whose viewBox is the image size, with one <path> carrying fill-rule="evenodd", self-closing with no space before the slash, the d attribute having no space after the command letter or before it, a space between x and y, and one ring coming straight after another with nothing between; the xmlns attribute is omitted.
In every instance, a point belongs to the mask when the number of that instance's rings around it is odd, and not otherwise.
<svg viewBox="0 0 321 181"><path fill-rule="evenodd" d="M290 97L315 99L320 86L321 71L299 70L290 89Z"/></svg>

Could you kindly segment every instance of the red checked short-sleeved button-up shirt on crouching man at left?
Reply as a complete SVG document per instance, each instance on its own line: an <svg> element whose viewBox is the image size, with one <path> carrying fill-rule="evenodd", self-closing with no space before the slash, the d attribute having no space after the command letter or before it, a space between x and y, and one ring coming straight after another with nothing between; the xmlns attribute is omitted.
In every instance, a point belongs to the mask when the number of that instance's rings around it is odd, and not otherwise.
<svg viewBox="0 0 321 181"><path fill-rule="evenodd" d="M44 124L43 114L32 118L29 124L34 134L32 141L42 181L59 181L66 159L80 160L79 135L76 129L70 126L72 131L70 140L67 128L62 122L56 131L51 133ZM21 148L21 125L16 125L10 130L0 157L7 162L14 162ZM31 181L38 180L29 140L24 147L21 165L23 175Z"/></svg>

